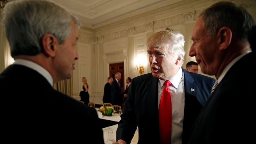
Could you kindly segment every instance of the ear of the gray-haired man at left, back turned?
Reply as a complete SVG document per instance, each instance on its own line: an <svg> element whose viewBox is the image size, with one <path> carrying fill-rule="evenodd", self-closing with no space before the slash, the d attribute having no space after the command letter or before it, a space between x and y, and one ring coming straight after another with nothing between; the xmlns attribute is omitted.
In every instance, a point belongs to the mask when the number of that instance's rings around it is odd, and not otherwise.
<svg viewBox="0 0 256 144"><path fill-rule="evenodd" d="M57 44L58 44L58 40L52 34L45 34L42 37L42 45L44 49L44 54L46 56L50 56L50 57L55 56Z"/></svg>

